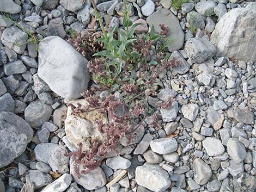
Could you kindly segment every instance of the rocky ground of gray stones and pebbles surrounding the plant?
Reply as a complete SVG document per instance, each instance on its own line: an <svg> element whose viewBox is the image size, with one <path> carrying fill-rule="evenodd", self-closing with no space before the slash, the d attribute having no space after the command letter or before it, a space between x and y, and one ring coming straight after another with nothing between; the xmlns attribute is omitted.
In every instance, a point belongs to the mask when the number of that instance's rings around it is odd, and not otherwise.
<svg viewBox="0 0 256 192"><path fill-rule="evenodd" d="M64 153L99 135L65 104L90 78L67 40L70 30L99 27L92 2L0 1L1 192L256 191L256 3L190 0L177 11L170 0L129 2L132 20L143 23L136 33L169 28L168 50L181 64L162 71L154 101L175 102L156 108L161 129L148 117L132 143L120 140L119 156L77 178ZM97 9L106 26L119 27L119 0L99 0Z"/></svg>

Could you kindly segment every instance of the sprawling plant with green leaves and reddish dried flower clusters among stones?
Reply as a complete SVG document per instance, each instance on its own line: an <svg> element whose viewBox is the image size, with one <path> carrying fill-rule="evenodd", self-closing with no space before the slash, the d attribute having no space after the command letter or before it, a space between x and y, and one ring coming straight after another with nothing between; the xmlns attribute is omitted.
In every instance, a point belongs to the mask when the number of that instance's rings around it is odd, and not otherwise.
<svg viewBox="0 0 256 192"><path fill-rule="evenodd" d="M96 38L96 42L98 45L103 44L102 50L92 55L88 64L95 85L90 91L82 94L88 106L75 106L71 103L69 105L72 113L80 117L97 109L108 116L108 122L97 121L97 128L105 137L102 143L92 139L91 147L87 151L83 151L80 144L77 152L68 154L75 161L77 177L99 166L111 150L117 151L115 147L119 144L119 139L126 137L130 143L138 127L147 117L154 114L154 108L169 109L172 106L173 97L159 103L154 103L153 100L157 89L163 86L159 78L160 73L178 65L175 59L169 60L165 57L165 48L168 45L159 41L167 34L168 28L160 25L162 32L156 34L153 26L150 33L135 35L135 27L139 23L133 24L130 20L124 0L125 30L113 27L107 32L97 13L94 0L92 3L96 20L102 30L101 37ZM74 41L72 45L77 46L78 51L82 50L84 55L89 50L77 42L74 44ZM99 95L102 90L105 90L105 96ZM152 116L150 126L161 128L156 115ZM78 171L78 165L82 165L82 171Z"/></svg>

